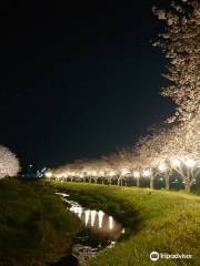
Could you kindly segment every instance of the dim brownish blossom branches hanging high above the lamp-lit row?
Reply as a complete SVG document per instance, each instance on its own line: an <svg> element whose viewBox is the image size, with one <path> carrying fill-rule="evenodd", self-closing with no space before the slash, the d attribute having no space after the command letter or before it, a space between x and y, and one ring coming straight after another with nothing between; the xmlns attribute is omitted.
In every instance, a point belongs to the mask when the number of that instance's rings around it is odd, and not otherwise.
<svg viewBox="0 0 200 266"><path fill-rule="evenodd" d="M153 8L153 12L167 23L166 31L154 45L170 60L164 76L171 84L163 88L161 94L177 104L177 111L168 122L199 119L200 3L197 0L182 0L180 6L172 2L170 10Z"/></svg>

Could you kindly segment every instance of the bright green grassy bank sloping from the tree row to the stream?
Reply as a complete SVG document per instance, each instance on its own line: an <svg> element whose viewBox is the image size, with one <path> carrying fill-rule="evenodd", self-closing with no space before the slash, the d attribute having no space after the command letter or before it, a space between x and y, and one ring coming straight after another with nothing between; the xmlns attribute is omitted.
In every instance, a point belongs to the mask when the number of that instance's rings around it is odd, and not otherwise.
<svg viewBox="0 0 200 266"><path fill-rule="evenodd" d="M113 214L129 237L92 258L90 266L200 265L200 197L182 192L51 183L88 207ZM134 217L133 217L134 216ZM136 227L136 229L133 229ZM191 254L192 259L151 262L151 252Z"/></svg>

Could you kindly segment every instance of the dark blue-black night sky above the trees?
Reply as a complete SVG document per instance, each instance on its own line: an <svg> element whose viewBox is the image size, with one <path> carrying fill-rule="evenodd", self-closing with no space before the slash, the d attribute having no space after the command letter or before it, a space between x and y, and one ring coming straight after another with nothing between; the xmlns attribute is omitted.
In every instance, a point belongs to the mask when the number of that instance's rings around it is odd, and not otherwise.
<svg viewBox="0 0 200 266"><path fill-rule="evenodd" d="M161 1L30 2L1 10L0 142L22 165L111 153L171 112L150 44Z"/></svg>

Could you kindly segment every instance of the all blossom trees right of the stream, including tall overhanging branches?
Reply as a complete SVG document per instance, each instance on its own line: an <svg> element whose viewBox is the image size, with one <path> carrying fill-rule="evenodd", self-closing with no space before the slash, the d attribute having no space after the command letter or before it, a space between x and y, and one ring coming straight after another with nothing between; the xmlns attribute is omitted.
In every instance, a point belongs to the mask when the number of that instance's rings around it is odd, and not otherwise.
<svg viewBox="0 0 200 266"><path fill-rule="evenodd" d="M176 111L133 147L49 170L47 177L120 184L132 176L138 186L146 177L153 188L161 175L169 188L176 174L187 191L194 184L200 172L200 3L172 1L167 10L153 8L153 13L166 23L153 43L168 59L164 76L169 84L161 89L161 95L176 104Z"/></svg>

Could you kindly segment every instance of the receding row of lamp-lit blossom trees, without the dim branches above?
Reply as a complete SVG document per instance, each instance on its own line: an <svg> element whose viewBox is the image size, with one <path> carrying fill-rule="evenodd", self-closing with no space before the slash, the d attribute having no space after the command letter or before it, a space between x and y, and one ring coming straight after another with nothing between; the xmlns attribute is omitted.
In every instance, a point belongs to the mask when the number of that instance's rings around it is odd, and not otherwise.
<svg viewBox="0 0 200 266"><path fill-rule="evenodd" d="M126 183L134 178L137 186L146 178L151 188L157 177L164 177L166 188L176 173L190 191L200 173L199 134L192 131L197 124L190 123L171 129L156 129L156 133L141 139L132 149L121 150L99 160L80 160L58 168L48 170L46 176L60 181L82 181L94 183ZM186 129L187 127L187 129ZM124 181L124 182L123 182Z"/></svg>

